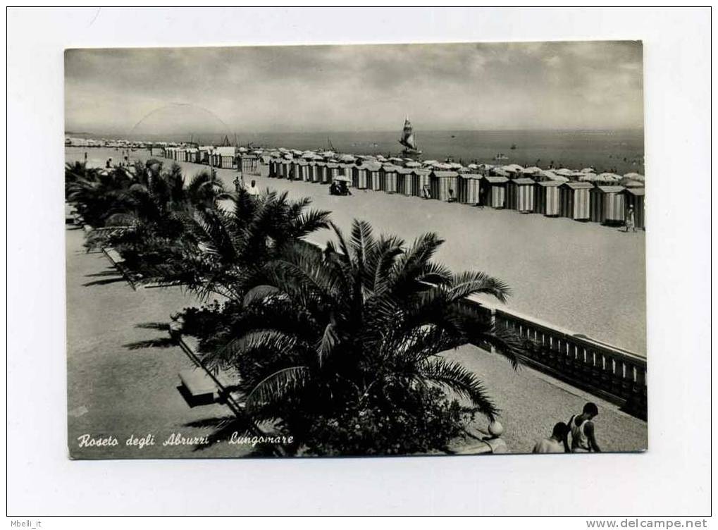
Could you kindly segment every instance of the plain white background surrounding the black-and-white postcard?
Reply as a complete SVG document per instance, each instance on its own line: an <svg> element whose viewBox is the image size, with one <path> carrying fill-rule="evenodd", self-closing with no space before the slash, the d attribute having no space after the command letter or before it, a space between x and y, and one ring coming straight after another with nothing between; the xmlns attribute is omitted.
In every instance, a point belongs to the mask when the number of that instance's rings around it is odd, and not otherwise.
<svg viewBox="0 0 718 530"><path fill-rule="evenodd" d="M10 515L709 513L708 9L88 8L11 9L7 17ZM567 39L643 40L648 452L590 457L67 460L65 47Z"/></svg>

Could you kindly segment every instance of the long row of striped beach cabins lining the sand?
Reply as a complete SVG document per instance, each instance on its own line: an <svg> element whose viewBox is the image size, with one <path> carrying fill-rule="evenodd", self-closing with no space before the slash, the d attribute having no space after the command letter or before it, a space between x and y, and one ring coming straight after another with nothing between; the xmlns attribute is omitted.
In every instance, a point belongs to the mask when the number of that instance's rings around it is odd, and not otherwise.
<svg viewBox="0 0 718 530"><path fill-rule="evenodd" d="M157 149L157 151L155 151ZM161 150L161 151L160 151ZM625 222L633 207L636 228L645 228L643 187L601 185L593 182L538 180L520 173L495 175L491 170L457 172L421 167L401 167L364 160L360 164L323 160L269 157L236 153L235 147L164 147L152 154L177 162L211 164L237 169L246 175L330 184L337 178L358 190L374 190L520 213L539 213L602 224Z"/></svg>

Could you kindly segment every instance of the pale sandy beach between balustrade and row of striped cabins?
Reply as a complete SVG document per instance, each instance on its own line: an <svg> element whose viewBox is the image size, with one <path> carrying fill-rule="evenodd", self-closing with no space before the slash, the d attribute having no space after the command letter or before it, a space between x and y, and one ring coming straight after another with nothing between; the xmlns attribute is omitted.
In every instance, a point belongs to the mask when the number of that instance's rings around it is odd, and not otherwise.
<svg viewBox="0 0 718 530"><path fill-rule="evenodd" d="M66 159L82 159L85 151L93 165L120 158L114 149L66 148ZM132 156L148 159L149 152ZM180 165L188 178L206 168ZM233 189L236 175L234 170L218 169L228 189ZM376 231L396 233L407 241L435 231L446 240L437 259L455 271L481 270L503 279L513 291L510 309L645 355L643 231L623 233L597 223L383 192L353 190L351 197L333 197L319 184L249 178L292 197L312 197L314 208L331 210L332 219L345 230L353 218L361 218ZM314 235L320 243L330 237L328 231Z"/></svg>

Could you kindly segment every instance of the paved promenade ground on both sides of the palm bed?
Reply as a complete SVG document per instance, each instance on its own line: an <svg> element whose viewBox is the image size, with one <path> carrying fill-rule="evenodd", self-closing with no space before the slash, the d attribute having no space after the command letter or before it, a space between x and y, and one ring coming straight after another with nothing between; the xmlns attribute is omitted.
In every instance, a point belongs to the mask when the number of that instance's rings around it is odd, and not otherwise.
<svg viewBox="0 0 718 530"><path fill-rule="evenodd" d="M162 338L157 330L136 325L167 322L171 312L194 304L180 289L139 289L109 265L103 254L85 254L83 232L66 231L67 244L67 386L68 442L77 458L98 457L236 457L248 447L220 443L200 452L192 446L162 447L172 432L202 437L207 429L191 422L222 417L225 406L190 408L178 391L177 373L191 365L177 346L130 348L132 343ZM617 411L615 406L572 389L541 373L508 363L473 346L447 354L484 379L503 410L504 440L511 452L528 452L536 439L548 434L557 421L567 421L587 399L600 408L599 442L605 450L646 447L645 422ZM154 433L156 445L127 447L134 434ZM115 436L116 447L78 448L78 437Z"/></svg>

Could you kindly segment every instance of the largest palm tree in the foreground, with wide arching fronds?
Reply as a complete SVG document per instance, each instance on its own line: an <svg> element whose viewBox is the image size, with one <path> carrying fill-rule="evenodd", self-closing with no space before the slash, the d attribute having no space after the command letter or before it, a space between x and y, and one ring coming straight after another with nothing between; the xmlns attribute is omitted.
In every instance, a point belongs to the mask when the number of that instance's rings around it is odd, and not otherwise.
<svg viewBox="0 0 718 530"><path fill-rule="evenodd" d="M235 368L248 414L256 422L278 421L310 447L322 443L317 425L341 425L349 417L360 427L372 417L370 432L350 433L351 447L338 451L391 452L396 432L435 431L429 416L444 427L450 418L449 427L456 427L461 417L456 404L454 412L444 406L449 396L467 403L462 412L493 419L498 409L483 383L441 354L489 344L518 366L518 341L461 303L470 294L503 302L508 287L485 273L453 274L432 261L442 244L434 233L407 248L394 236L375 238L362 221L355 220L348 241L332 228L337 243L324 251L294 245L264 266L264 284L246 294L225 346L206 355L207 366ZM446 442L442 433L430 434L428 445Z"/></svg>

